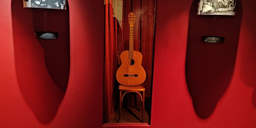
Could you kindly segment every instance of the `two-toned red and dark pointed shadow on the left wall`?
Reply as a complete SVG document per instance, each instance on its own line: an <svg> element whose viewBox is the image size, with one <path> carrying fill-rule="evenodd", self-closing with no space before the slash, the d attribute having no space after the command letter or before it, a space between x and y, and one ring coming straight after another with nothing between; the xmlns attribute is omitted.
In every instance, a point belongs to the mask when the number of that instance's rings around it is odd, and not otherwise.
<svg viewBox="0 0 256 128"><path fill-rule="evenodd" d="M69 11L23 8L12 0L16 77L20 91L39 122L55 117L70 70ZM36 39L34 32L59 32L59 39Z"/></svg>

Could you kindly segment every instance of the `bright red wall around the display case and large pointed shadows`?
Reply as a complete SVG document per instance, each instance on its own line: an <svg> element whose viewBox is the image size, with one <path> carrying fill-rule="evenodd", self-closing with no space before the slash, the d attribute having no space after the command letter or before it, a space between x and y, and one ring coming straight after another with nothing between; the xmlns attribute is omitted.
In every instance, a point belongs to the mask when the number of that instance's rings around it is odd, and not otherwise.
<svg viewBox="0 0 256 128"><path fill-rule="evenodd" d="M158 0L151 127L255 128L256 18L250 5L255 5L256 1L242 0L243 14L234 74L213 114L207 119L200 119L194 112L185 80L191 2ZM48 124L38 121L21 93L16 78L12 32L12 20L16 19L12 18L11 0L1 0L0 5L4 5L0 8L0 127L101 128L103 1L69 0L69 84L57 114ZM169 92L164 93L167 90ZM45 97L47 94L42 94L42 99Z"/></svg>

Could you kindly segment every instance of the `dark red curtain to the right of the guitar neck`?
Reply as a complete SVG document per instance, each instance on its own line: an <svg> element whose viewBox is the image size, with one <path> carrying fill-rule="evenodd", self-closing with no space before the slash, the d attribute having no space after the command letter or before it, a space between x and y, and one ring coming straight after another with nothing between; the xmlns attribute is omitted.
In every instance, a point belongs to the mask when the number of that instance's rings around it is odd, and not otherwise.
<svg viewBox="0 0 256 128"><path fill-rule="evenodd" d="M149 97L151 92L153 52L155 38L155 0L147 0L142 6L146 10L139 17L138 35L140 35L140 51L143 55L142 66L146 71L146 80L143 83L145 87L145 96Z"/></svg>

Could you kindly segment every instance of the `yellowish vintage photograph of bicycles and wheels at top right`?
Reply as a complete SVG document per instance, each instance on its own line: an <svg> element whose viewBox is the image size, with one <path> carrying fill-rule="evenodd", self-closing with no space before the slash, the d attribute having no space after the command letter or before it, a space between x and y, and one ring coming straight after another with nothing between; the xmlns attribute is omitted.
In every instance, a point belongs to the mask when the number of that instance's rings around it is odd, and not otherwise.
<svg viewBox="0 0 256 128"><path fill-rule="evenodd" d="M199 0L197 15L236 15L237 0Z"/></svg>

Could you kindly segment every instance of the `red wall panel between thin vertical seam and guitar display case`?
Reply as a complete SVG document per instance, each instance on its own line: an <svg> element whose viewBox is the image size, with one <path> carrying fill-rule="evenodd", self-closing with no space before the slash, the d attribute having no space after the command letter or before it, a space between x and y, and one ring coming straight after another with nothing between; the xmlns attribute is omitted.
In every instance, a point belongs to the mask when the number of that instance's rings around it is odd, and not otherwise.
<svg viewBox="0 0 256 128"><path fill-rule="evenodd" d="M73 0L74 127L102 127L104 4Z"/></svg>

